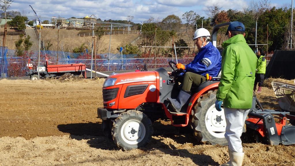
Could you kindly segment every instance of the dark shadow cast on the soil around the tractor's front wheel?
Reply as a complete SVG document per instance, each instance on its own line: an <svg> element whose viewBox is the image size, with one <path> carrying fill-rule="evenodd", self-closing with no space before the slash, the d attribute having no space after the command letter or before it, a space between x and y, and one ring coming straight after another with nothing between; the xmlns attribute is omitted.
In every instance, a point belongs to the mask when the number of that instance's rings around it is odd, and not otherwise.
<svg viewBox="0 0 295 166"><path fill-rule="evenodd" d="M193 154L187 149L177 149L177 147L171 143L163 143L162 141L165 140L165 138L170 138L178 144L192 143L193 146L203 144L194 138L189 128L174 127L170 125L170 122L166 122L164 121L165 124L159 121L153 123L153 136L160 139L152 138L151 142L146 147L140 148L141 150L146 152L160 150L168 155L191 158L196 165L218 165L209 155ZM88 140L87 143L90 147L103 150L119 150L113 140L104 136L101 130L101 123L60 124L58 125L58 129L61 132L69 133L71 139Z"/></svg>

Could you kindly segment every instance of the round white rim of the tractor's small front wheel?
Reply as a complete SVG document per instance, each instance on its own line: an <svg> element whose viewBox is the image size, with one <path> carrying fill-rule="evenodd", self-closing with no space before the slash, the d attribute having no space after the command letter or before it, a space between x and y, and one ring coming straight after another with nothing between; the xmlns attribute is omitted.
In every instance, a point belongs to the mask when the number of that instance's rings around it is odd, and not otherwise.
<svg viewBox="0 0 295 166"><path fill-rule="evenodd" d="M130 119L121 128L121 137L128 144L138 144L145 137L145 125L139 120Z"/></svg>

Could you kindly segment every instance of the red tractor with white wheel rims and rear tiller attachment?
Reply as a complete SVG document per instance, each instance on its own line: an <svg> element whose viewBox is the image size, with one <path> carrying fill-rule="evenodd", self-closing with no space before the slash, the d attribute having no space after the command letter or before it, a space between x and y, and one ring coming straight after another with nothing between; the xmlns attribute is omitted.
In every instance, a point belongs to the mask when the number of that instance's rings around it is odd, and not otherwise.
<svg viewBox="0 0 295 166"><path fill-rule="evenodd" d="M213 44L216 44L217 30L228 24L214 27ZM176 63L169 62L173 69L171 76L164 68L159 68L155 71L114 74L106 78L102 89L104 108L98 108L97 114L102 119L104 134L113 139L118 147L123 150L144 147L151 140L152 122L157 119L170 119L176 127L191 127L199 141L227 145L224 111L215 109L220 73L199 87L192 87L190 99L181 112L176 113L169 111L165 100L178 96L183 70L174 69L172 64ZM273 114L279 115L281 124L275 123ZM286 116L295 117L289 112L263 110L254 95L250 115L247 127L266 138L269 144L277 145L286 140L287 145L295 144L295 127L291 125L287 127L288 130L282 130L286 127ZM283 134L284 138L281 137L282 131L288 133Z"/></svg>

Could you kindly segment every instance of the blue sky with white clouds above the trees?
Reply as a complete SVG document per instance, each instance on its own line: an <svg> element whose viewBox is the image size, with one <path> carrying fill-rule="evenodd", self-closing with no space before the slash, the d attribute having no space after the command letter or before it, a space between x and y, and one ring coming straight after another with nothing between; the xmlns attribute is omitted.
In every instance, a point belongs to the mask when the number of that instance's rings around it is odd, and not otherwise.
<svg viewBox="0 0 295 166"><path fill-rule="evenodd" d="M182 14L190 10L207 18L204 11L213 4L218 4L223 10L242 10L250 1L252 0L14 0L9 10L34 16L29 7L31 5L41 17L80 18L94 14L102 20L126 20L127 16L134 16L133 22L140 23L150 17L161 21L171 14L182 18ZM272 6L281 7L291 6L292 0L268 1Z"/></svg>

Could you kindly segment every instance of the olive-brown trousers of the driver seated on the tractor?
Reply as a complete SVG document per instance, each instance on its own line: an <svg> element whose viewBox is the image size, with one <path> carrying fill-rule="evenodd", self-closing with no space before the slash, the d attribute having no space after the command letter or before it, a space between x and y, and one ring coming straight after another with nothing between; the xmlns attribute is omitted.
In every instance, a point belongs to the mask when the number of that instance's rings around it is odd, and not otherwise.
<svg viewBox="0 0 295 166"><path fill-rule="evenodd" d="M186 72L182 82L182 90L189 92L191 91L192 85L199 86L204 81L206 81L206 77L200 74Z"/></svg>

